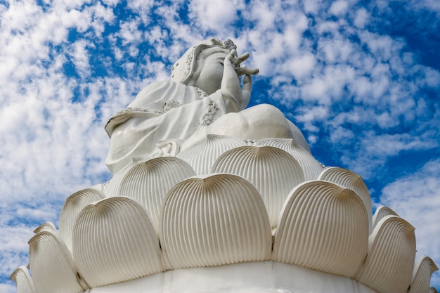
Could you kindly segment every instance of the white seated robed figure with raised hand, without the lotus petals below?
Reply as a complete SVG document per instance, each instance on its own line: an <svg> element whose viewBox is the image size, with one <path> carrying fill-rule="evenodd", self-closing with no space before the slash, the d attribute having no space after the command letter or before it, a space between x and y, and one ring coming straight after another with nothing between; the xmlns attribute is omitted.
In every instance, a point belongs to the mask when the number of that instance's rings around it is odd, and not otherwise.
<svg viewBox="0 0 440 293"><path fill-rule="evenodd" d="M131 159L151 155L157 143L186 140L195 131L198 134L189 141L196 141L200 135L230 131L233 133L228 135L248 139L268 134L293 138L293 130L300 144L308 148L301 132L271 105L260 105L212 124L226 113L245 109L250 100L251 76L258 70L240 67L249 53L237 56L235 48L231 40L200 42L174 64L170 82L150 84L110 119L105 126L111 138L106 163L113 174Z"/></svg>

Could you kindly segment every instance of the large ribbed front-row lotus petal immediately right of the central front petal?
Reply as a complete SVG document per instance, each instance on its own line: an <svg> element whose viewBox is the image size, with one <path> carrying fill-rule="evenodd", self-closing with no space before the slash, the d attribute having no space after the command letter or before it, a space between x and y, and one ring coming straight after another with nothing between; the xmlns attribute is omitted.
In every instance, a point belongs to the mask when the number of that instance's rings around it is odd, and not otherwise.
<svg viewBox="0 0 440 293"><path fill-rule="evenodd" d="M281 211L274 261L351 278L368 249L368 216L351 190L307 181L292 190Z"/></svg>

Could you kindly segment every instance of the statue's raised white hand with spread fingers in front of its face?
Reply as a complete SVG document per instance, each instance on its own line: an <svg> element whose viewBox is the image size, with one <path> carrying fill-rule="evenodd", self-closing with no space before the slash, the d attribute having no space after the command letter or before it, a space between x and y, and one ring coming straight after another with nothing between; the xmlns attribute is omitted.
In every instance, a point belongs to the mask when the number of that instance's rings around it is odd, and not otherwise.
<svg viewBox="0 0 440 293"><path fill-rule="evenodd" d="M235 50L226 56L224 60L224 73L221 80L221 91L224 96L232 96L238 103L238 110L246 107L250 100L250 93L252 91L251 75L257 74L257 68L240 67L241 63L249 58L249 53L242 56L236 56ZM243 85L240 86L240 76L243 78Z"/></svg>

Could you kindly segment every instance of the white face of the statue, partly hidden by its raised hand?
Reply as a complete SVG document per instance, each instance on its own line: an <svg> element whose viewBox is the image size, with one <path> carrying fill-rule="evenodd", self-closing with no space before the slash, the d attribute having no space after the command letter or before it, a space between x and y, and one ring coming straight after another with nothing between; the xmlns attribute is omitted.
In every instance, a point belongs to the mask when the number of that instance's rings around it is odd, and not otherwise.
<svg viewBox="0 0 440 293"><path fill-rule="evenodd" d="M208 95L220 89L221 79L223 78L223 63L227 55L226 51L217 51L209 54L205 58L204 64L198 60L202 70L195 78L193 85L206 91Z"/></svg>

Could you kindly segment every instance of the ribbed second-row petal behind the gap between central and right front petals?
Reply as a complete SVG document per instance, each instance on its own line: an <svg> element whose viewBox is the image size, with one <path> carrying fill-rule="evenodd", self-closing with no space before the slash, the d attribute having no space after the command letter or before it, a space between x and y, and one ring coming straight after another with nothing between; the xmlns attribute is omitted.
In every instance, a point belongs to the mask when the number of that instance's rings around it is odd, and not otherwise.
<svg viewBox="0 0 440 293"><path fill-rule="evenodd" d="M235 174L254 184L263 197L272 229L290 190L304 181L298 162L284 150L270 146L228 150L216 160L212 173Z"/></svg>

